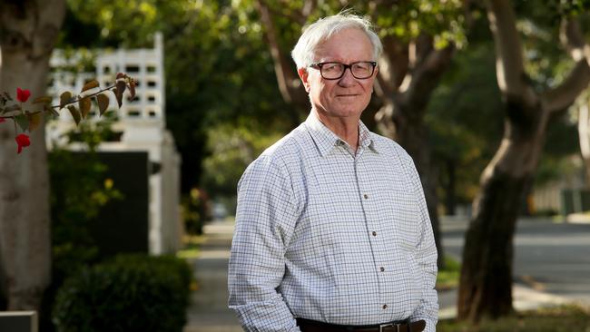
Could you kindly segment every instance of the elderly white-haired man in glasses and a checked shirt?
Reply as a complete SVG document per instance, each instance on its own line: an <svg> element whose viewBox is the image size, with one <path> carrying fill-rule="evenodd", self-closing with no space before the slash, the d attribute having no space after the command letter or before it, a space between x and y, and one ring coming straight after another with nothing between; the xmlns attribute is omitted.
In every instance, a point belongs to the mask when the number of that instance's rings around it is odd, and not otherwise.
<svg viewBox="0 0 590 332"><path fill-rule="evenodd" d="M360 122L381 48L368 21L341 14L293 49L310 115L238 185L229 302L247 331L435 331L437 249L418 172Z"/></svg>

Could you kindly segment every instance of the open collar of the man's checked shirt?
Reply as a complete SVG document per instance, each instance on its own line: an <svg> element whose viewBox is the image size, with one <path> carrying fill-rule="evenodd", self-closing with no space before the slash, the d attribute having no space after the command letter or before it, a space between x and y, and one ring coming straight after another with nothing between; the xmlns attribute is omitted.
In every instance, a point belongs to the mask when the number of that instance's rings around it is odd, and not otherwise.
<svg viewBox="0 0 590 332"><path fill-rule="evenodd" d="M310 112L310 115L304 123L310 132L311 138L318 146L318 150L320 150L322 157L343 142L338 135L330 131L328 127L320 122L318 115L314 112ZM371 138L369 129L362 121L359 121L359 147L369 148L372 151L376 151L375 143Z"/></svg>

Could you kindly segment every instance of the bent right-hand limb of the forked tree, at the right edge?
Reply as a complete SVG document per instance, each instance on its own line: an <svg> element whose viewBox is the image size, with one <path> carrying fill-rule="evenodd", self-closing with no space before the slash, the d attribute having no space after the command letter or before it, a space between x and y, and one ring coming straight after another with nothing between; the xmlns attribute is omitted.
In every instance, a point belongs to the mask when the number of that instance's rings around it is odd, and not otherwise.
<svg viewBox="0 0 590 332"><path fill-rule="evenodd" d="M560 39L574 59L575 66L563 83L542 94L541 98L549 112L568 108L590 83L590 47L585 43L578 22L565 19L561 25Z"/></svg>

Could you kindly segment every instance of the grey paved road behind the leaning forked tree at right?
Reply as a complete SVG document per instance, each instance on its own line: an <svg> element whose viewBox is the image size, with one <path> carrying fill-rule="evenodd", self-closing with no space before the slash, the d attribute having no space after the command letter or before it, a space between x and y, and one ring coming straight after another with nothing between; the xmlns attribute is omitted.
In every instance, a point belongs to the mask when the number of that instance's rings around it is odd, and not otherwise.
<svg viewBox="0 0 590 332"><path fill-rule="evenodd" d="M443 220L443 246L460 258L466 220ZM590 306L590 224L519 220L515 282Z"/></svg>

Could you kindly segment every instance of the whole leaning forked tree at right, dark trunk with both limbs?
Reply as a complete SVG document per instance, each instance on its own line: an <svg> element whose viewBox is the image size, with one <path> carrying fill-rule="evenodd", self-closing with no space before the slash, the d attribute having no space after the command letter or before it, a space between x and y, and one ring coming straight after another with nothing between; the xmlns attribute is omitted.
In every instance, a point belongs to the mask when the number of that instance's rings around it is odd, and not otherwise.
<svg viewBox="0 0 590 332"><path fill-rule="evenodd" d="M563 83L536 93L526 79L516 17L509 0L489 0L487 15L497 55L497 83L505 105L505 133L481 176L467 229L457 297L457 316L477 322L501 317L512 308L513 237L516 219L543 149L546 128L590 83L584 57ZM562 26L565 43L586 48L575 21ZM588 57L590 58L590 57Z"/></svg>

